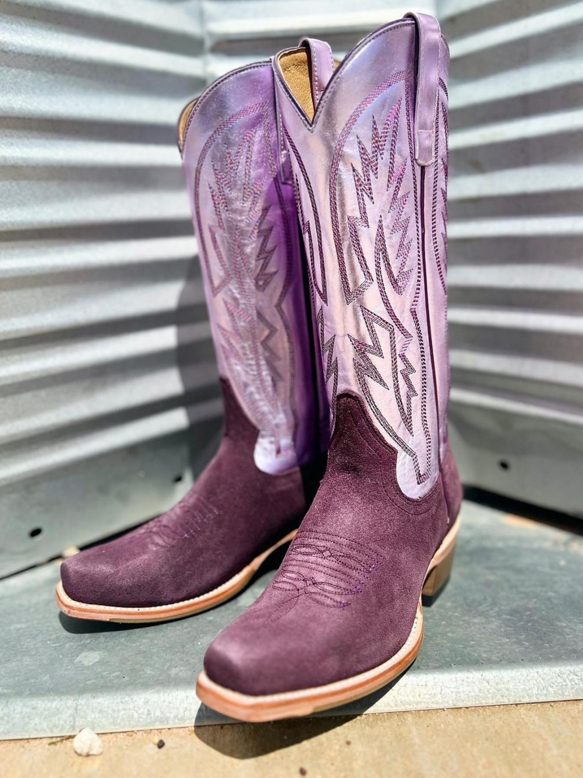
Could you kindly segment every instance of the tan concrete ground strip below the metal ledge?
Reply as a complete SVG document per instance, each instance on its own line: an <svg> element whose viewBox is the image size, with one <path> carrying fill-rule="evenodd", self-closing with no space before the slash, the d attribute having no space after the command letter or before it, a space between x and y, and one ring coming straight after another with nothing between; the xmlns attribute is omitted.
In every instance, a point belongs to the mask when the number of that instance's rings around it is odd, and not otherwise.
<svg viewBox="0 0 583 778"><path fill-rule="evenodd" d="M72 738L5 741L0 765L3 778L580 778L582 716L575 701L183 727L104 734L91 757Z"/></svg>

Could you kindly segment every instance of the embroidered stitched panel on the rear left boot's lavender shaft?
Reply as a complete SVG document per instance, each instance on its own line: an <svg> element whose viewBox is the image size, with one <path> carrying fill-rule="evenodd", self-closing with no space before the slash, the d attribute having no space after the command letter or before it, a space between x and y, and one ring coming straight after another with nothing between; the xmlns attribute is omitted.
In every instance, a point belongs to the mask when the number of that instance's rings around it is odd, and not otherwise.
<svg viewBox="0 0 583 778"><path fill-rule="evenodd" d="M236 145L229 143L228 139L217 153L215 144L225 133L238 122L249 124L250 120L253 123L239 136ZM211 180L208 180L207 186L215 223L208 225L207 229L221 268L218 279L213 276L207 253L200 201L203 166L213 147ZM264 192L268 187L273 187L277 205L274 202L266 204ZM289 428L286 406L295 419L292 334L282 307L292 275L292 240L275 165L267 103L255 103L240 110L211 133L197 159L194 205L201 257L211 295L213 298L221 295L221 304L227 314L228 325L218 321L216 329L229 366L229 377L253 422L272 441L274 455L283 456L292 445L290 431L285 433L287 443L281 446L282 432ZM270 225L267 221L272 208L278 208L276 218L281 218L285 240L285 265L281 266L280 262L280 266L273 270L274 253L281 253L282 247L278 249L273 242L273 223ZM277 299L272 307L269 303L258 307L257 293L266 293L276 276L279 276L279 290L275 290ZM272 321L271 311L277 316L277 321ZM281 365L284 353L276 351L276 343L280 349L284 346L286 374L289 373L290 377L289 386L282 390L287 391L285 402L282 402L281 391L278 390L278 384L283 381Z"/></svg>

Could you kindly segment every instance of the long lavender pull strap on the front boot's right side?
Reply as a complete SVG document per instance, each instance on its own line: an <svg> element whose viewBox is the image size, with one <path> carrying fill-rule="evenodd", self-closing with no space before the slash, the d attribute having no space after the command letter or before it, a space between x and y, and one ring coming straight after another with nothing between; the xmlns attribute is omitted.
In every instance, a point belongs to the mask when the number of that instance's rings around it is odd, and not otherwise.
<svg viewBox="0 0 583 778"><path fill-rule="evenodd" d="M415 159L431 165L435 152L435 111L439 88L439 49L442 32L439 23L426 13L408 12L417 24L417 99L415 100Z"/></svg>

